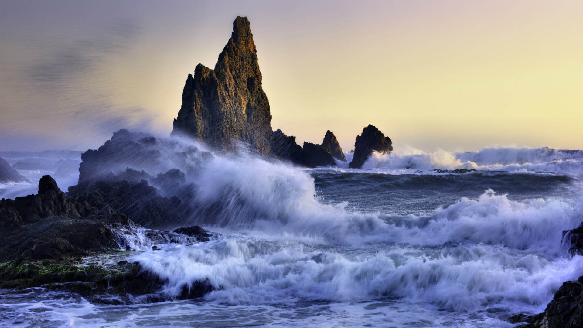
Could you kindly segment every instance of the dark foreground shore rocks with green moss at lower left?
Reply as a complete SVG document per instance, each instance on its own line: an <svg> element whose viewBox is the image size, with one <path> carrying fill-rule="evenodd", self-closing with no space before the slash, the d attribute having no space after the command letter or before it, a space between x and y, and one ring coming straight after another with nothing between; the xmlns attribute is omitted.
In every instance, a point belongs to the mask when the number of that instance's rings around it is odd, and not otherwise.
<svg viewBox="0 0 583 328"><path fill-rule="evenodd" d="M99 186L99 183L97 183ZM78 187L78 186L76 186ZM118 191L119 192L119 191ZM198 298L212 287L195 282L178 296L159 293L163 280L147 273L138 262L128 262L132 249L151 244L206 242L210 235L199 226L159 231L143 228L115 211L113 197L103 190L88 191L101 203L66 196L50 176L38 183L38 194L0 201L0 288L43 287L76 292L97 303L143 302ZM128 197L118 194L118 197ZM90 200L91 201L91 200ZM136 245L138 234L147 242ZM143 240L142 240L143 243ZM114 263L87 258L117 257Z"/></svg>

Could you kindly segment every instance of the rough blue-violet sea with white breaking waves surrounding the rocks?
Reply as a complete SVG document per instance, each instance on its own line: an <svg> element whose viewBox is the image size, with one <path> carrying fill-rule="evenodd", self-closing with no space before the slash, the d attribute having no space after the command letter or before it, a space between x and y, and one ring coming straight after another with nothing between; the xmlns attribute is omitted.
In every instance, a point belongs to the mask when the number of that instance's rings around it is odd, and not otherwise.
<svg viewBox="0 0 583 328"><path fill-rule="evenodd" d="M71 174L57 177L63 189ZM0 326L511 327L508 316L542 312L583 275L583 257L561 243L583 221L582 178L583 151L551 148L397 149L363 169L215 155L187 177L198 205L222 204L186 221L211 240L135 240L124 255L166 281L164 296L197 280L215 291L101 305L3 289Z"/></svg>

